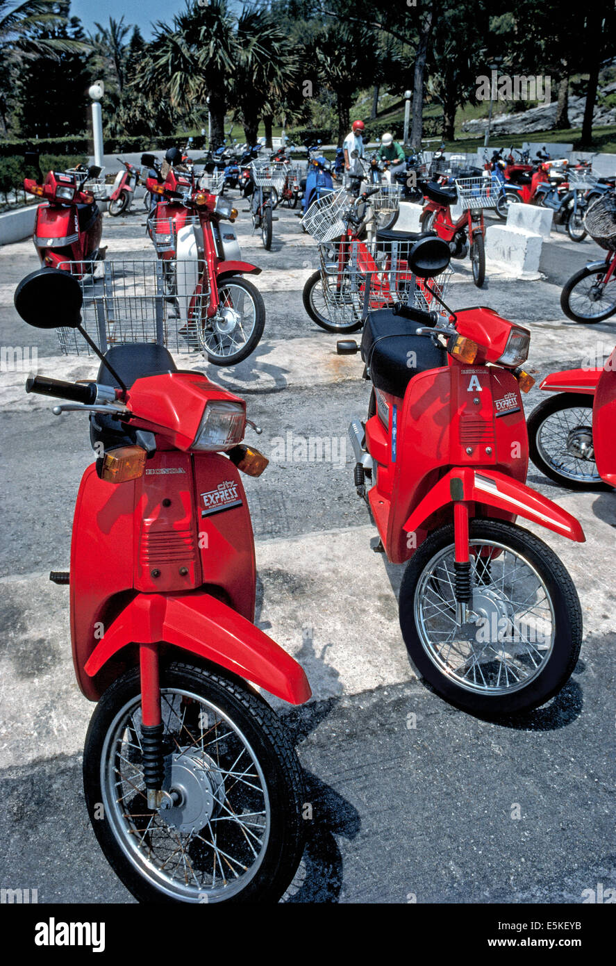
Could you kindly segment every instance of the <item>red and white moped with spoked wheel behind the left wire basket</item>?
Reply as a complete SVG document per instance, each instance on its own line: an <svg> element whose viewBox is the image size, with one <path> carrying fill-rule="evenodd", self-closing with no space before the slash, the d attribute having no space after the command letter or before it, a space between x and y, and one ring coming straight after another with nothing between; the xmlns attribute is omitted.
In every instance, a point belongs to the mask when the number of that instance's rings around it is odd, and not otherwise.
<svg viewBox="0 0 616 966"><path fill-rule="evenodd" d="M151 230L167 296L178 302L179 334L214 365L236 365L254 352L266 325L261 293L241 277L261 269L241 259L238 211L229 199L200 188L196 176L181 185L173 169L164 184L154 178L146 184L164 213Z"/></svg>

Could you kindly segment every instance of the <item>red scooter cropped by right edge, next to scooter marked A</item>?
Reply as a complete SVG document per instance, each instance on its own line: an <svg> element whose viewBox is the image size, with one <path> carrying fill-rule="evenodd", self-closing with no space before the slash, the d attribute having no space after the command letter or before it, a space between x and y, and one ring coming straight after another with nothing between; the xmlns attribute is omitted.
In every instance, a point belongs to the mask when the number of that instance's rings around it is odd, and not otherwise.
<svg viewBox="0 0 616 966"><path fill-rule="evenodd" d="M616 349L602 367L553 373L528 419L530 458L571 490L616 487Z"/></svg>

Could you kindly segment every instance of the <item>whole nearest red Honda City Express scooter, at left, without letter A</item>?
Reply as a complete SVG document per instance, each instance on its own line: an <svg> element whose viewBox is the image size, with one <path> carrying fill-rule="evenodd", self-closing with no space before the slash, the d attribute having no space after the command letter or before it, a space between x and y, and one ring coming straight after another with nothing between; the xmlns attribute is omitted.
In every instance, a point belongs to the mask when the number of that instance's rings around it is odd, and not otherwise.
<svg viewBox="0 0 616 966"><path fill-rule="evenodd" d="M17 287L30 325L75 327L98 378L36 376L28 392L88 412L96 465L77 496L70 632L77 681L96 701L83 775L93 828L147 902L272 901L302 852L301 770L257 688L310 697L299 665L254 624L255 554L238 469L245 403L153 343L103 356L80 327L82 294L43 269Z"/></svg>

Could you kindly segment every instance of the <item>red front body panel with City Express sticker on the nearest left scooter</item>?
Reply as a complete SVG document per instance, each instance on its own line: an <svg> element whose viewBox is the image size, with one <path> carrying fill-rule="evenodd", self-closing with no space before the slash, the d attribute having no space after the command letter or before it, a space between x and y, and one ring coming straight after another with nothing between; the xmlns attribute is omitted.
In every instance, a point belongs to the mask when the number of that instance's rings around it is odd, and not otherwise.
<svg viewBox="0 0 616 966"><path fill-rule="evenodd" d="M202 517L202 495L219 486L226 491L219 512ZM222 597L251 621L255 581L250 514L238 470L227 457L156 452L142 477L121 484L100 480L89 467L77 496L70 551L72 653L83 693L97 700L104 690L84 665L139 591L182 596L207 588L208 596Z"/></svg>

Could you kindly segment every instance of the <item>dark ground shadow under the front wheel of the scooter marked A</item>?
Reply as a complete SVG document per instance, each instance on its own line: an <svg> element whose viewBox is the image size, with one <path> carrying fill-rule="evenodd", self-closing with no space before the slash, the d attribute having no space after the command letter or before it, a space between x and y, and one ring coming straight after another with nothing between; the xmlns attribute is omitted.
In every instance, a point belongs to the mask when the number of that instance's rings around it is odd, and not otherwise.
<svg viewBox="0 0 616 966"><path fill-rule="evenodd" d="M605 495L609 496L609 495ZM385 556L383 556L383 563L385 566L385 572L391 584L391 588L396 596L396 600L400 598L400 584L402 582L403 574L405 572L405 564L390 563ZM402 633L400 635L401 647L405 646ZM412 668L413 674L416 674L415 668L408 658L408 666ZM578 660L574 668L574 674L581 674L584 672L586 666L583 661ZM421 684L427 691L431 692L440 701L443 698L436 694L434 688L425 681L423 678L419 679ZM481 715L473 714L473 718L477 718L480 721L485 721L491 725L499 727L508 727L517 731L556 731L561 727L566 725L571 725L573 722L579 718L582 706L583 706L583 692L577 681L570 678L565 687L556 696L551 698L551 700L540 708L535 708L534 711L528 711L518 715ZM460 711L460 714L470 714L468 711Z"/></svg>

